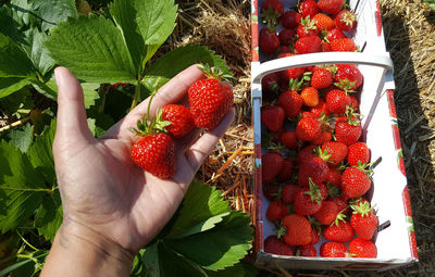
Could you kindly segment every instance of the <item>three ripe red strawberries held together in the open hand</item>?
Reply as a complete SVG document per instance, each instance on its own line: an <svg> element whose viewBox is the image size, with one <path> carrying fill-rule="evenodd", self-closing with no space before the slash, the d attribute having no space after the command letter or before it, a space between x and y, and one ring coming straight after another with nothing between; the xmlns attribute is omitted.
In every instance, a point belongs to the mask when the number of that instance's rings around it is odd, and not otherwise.
<svg viewBox="0 0 435 277"><path fill-rule="evenodd" d="M132 131L140 136L132 147L134 162L145 171L161 178L171 178L175 167L174 138L179 139L196 127L213 129L228 113L234 102L233 89L225 80L229 77L217 68L201 65L206 78L194 83L188 89L189 106L167 104L159 109L154 118L148 113L138 121Z"/></svg>

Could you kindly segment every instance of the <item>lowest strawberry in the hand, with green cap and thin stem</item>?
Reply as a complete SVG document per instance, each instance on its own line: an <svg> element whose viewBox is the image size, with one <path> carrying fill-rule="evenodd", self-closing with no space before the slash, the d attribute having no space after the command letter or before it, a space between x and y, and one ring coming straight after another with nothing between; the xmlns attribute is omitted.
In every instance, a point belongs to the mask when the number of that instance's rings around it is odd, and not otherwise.
<svg viewBox="0 0 435 277"><path fill-rule="evenodd" d="M174 140L165 133L169 125L171 122L162 119L160 110L150 123L144 115L142 121L137 123L137 129L132 129L141 136L132 147L133 161L161 179L169 179L175 173Z"/></svg>

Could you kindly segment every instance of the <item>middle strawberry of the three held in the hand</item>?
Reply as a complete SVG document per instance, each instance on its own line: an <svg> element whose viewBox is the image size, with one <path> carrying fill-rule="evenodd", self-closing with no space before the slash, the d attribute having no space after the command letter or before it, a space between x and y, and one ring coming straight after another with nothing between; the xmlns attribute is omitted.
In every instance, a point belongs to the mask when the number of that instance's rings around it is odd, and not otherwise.
<svg viewBox="0 0 435 277"><path fill-rule="evenodd" d="M162 119L171 122L166 130L174 138L182 138L195 128L195 121L190 110L184 105L169 104L162 109Z"/></svg>

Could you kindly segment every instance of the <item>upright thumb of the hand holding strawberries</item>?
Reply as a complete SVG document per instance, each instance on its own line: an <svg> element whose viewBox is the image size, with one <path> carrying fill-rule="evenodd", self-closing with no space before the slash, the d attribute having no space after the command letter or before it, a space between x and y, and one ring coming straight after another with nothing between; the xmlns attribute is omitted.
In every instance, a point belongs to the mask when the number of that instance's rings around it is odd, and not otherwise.
<svg viewBox="0 0 435 277"><path fill-rule="evenodd" d="M55 68L54 76L58 84L57 137L77 143L91 142L95 138L88 127L80 84L66 67Z"/></svg>

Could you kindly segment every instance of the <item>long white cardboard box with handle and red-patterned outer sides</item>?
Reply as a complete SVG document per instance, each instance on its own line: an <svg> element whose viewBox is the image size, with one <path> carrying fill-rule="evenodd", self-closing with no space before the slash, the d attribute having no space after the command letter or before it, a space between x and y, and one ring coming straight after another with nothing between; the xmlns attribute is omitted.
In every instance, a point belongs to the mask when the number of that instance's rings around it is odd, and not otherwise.
<svg viewBox="0 0 435 277"><path fill-rule="evenodd" d="M295 0L282 0L285 10L296 5ZM351 34L363 52L326 52L296 55L266 61L259 53L259 9L262 1L251 2L252 11L252 63L251 95L253 106L256 144L256 265L274 268L304 269L363 269L385 270L418 261L415 236L409 203L407 178L397 116L394 104L393 63L386 52L381 22L380 5L376 0L350 0L350 9L358 18L356 32ZM375 206L380 225L384 227L375 236L376 259L330 259L300 257L269 254L263 251L264 239L273 234L272 224L265 219L269 200L262 194L261 182L261 78L271 72L314 64L356 63L364 76L360 99L363 114L363 140L371 149L372 161L381 158L374 168L371 203ZM264 152L264 150L263 150ZM318 251L319 252L319 251Z"/></svg>

